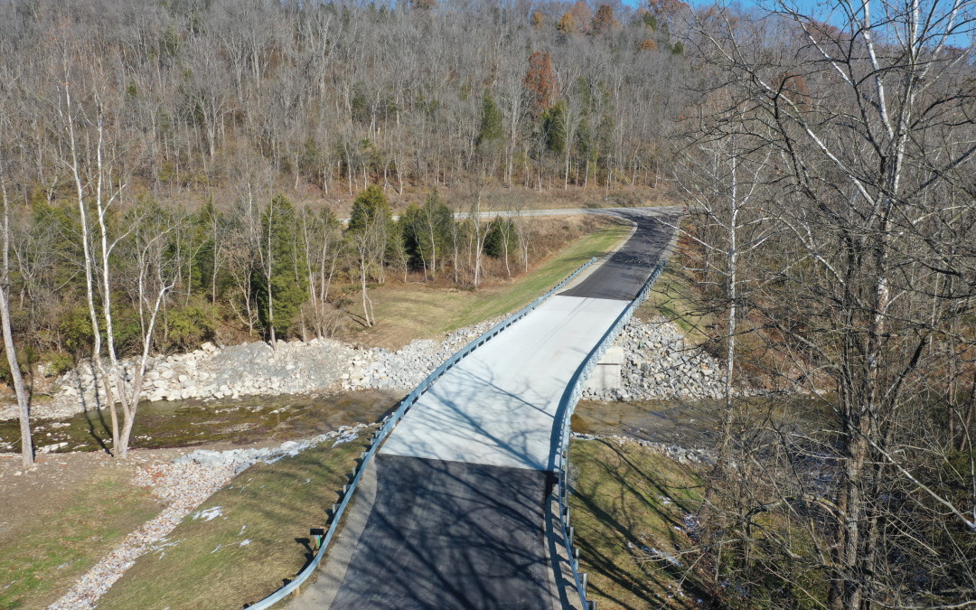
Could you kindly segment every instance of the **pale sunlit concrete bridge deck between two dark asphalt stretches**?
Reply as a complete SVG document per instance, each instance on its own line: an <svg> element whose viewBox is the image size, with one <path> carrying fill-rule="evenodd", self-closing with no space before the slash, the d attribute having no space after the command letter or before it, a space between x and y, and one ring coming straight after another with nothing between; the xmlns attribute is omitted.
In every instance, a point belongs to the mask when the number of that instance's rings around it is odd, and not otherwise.
<svg viewBox="0 0 976 610"><path fill-rule="evenodd" d="M437 380L381 453L552 469L560 398L627 305L551 297Z"/></svg>

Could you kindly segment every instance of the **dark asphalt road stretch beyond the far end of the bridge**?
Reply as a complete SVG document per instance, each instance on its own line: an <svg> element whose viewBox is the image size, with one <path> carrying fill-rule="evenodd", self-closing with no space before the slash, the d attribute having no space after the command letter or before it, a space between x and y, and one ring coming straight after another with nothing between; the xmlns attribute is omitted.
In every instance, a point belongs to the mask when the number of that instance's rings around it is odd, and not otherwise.
<svg viewBox="0 0 976 610"><path fill-rule="evenodd" d="M653 217L629 212L619 212L617 216L636 223L637 230L609 261L578 285L559 293L560 297L614 301L633 301L637 297L654 265L666 255L679 217Z"/></svg>

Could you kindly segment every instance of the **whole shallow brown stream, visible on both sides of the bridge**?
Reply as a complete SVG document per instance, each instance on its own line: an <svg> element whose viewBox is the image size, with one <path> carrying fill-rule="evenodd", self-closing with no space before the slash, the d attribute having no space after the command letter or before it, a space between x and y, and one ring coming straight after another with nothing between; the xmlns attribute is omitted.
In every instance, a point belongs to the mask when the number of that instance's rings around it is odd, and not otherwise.
<svg viewBox="0 0 976 610"><path fill-rule="evenodd" d="M330 396L248 396L203 402L142 403L133 439L134 448L189 447L224 441L233 444L261 440L283 441L321 434L340 426L373 423L391 413L402 391L370 389ZM818 407L798 398L799 421L817 418ZM760 411L771 403L750 401ZM583 400L573 414L573 431L590 434L627 434L659 443L705 448L718 438L721 400L648 400L598 402ZM121 426L119 409L119 426ZM822 421L822 420L821 420ZM80 413L69 420L33 423L34 444L39 451L97 451L111 444L111 418L107 410ZM44 447L51 449L45 450ZM0 422L0 451L20 448L16 420Z"/></svg>

